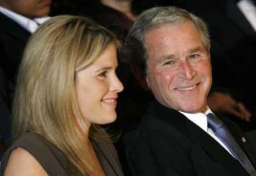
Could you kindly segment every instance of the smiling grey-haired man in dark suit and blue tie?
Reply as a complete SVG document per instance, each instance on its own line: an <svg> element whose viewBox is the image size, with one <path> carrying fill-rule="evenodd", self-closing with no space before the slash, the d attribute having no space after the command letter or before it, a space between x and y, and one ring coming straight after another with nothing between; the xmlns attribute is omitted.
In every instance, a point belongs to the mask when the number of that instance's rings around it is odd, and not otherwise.
<svg viewBox="0 0 256 176"><path fill-rule="evenodd" d="M127 49L156 98L124 138L131 175L256 175L250 142L207 106L210 40L200 18L171 6L147 10Z"/></svg>

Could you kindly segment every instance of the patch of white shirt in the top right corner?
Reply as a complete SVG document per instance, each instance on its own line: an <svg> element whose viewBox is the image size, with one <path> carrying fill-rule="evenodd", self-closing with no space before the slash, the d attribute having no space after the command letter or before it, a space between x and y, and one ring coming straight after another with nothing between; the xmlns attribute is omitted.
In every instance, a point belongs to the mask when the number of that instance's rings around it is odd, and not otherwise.
<svg viewBox="0 0 256 176"><path fill-rule="evenodd" d="M250 22L254 31L256 31L256 6L251 0L241 0L237 3L244 17Z"/></svg>

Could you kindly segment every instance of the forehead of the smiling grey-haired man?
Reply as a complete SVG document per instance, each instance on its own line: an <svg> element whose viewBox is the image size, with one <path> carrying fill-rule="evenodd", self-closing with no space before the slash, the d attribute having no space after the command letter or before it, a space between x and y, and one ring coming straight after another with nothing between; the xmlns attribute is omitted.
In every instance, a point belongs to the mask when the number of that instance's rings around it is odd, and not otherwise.
<svg viewBox="0 0 256 176"><path fill-rule="evenodd" d="M186 30L186 28L190 30ZM191 45L191 41L198 46ZM188 51L188 49L195 49L195 47L200 46L205 48L200 33L192 22L166 24L159 26L159 28L151 29L145 34L145 47L150 56L150 61L159 60L164 55L189 52L190 50ZM177 53L170 53L171 51Z"/></svg>

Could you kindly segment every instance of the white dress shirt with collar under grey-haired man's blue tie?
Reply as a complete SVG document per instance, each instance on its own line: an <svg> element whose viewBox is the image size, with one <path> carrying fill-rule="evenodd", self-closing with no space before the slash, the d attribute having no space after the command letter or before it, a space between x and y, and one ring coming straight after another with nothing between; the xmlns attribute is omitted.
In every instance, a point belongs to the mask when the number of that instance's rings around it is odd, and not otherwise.
<svg viewBox="0 0 256 176"><path fill-rule="evenodd" d="M200 127L205 132L207 132L207 134L209 134L214 140L216 140L218 143L220 143L220 145L223 148L225 148L225 150L227 150L228 153L230 153L231 156L233 156L233 154L230 152L228 147L214 134L212 129L210 129L208 127L207 116L206 115L208 113L212 113L211 109L207 108L205 113L184 113L184 112L181 112L181 111L179 111L179 112L182 113L182 115L186 116L191 122L193 122L194 124L198 125L198 127Z"/></svg>

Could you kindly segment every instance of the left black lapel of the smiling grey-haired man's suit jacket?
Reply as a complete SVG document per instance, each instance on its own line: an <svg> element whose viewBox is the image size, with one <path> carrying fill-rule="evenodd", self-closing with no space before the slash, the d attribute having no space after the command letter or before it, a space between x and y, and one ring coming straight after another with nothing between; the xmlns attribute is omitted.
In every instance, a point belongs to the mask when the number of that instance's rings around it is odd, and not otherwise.
<svg viewBox="0 0 256 176"><path fill-rule="evenodd" d="M166 108L154 102L150 104L150 111L157 118L163 120L167 124L180 131L187 136L192 143L202 148L213 161L220 163L224 168L227 168L233 175L248 175L234 157L232 157L225 148L223 148L217 141L215 141L209 134L202 130L198 125L194 124L186 116L178 111ZM154 107L154 108L152 108Z"/></svg>

